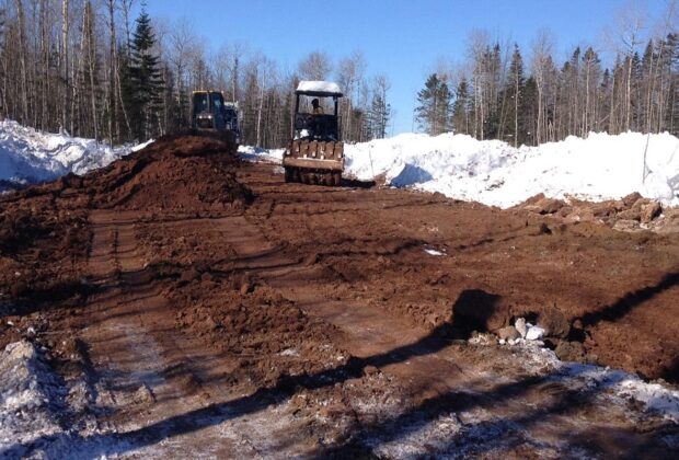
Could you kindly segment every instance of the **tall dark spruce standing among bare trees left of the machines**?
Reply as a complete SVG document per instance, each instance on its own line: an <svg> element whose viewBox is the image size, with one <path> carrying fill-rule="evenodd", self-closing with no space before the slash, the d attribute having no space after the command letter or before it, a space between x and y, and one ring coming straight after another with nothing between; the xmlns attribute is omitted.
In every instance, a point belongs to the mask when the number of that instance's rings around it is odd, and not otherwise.
<svg viewBox="0 0 679 460"><path fill-rule="evenodd" d="M137 139L148 139L160 131L164 82L160 59L153 49L156 35L145 7L136 23L124 89L131 135Z"/></svg>

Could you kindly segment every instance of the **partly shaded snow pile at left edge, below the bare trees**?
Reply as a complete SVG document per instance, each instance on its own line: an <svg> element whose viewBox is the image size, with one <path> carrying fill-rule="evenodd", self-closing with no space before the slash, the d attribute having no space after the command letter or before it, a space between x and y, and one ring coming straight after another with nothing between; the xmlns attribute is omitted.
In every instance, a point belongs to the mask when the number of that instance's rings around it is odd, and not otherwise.
<svg viewBox="0 0 679 460"><path fill-rule="evenodd" d="M35 183L103 168L149 142L111 148L93 139L43 133L16 122L0 122L0 182Z"/></svg>

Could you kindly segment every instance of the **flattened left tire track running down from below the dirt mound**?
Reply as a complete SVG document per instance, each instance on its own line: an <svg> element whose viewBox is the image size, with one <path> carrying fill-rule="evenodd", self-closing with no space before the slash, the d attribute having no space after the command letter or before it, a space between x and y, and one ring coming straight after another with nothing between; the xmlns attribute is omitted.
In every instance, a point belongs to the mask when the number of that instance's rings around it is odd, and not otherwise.
<svg viewBox="0 0 679 460"><path fill-rule="evenodd" d="M162 321L163 317L172 321L172 309L152 283L152 276L145 272L143 261L137 254L135 216L95 211L91 221L93 241L89 267L99 292L89 300L92 323L82 331L82 340L88 344L90 359L97 371L97 403L111 413L106 418L107 429L125 436L125 433L211 402L189 365L196 357L199 363L209 361L209 357L197 344L179 337L171 322ZM164 439L153 446L153 456L168 449L173 456L188 458L197 451L208 455L208 447L210 453L217 456L239 451L252 453L246 442L234 448L217 427L205 432L200 436ZM239 436L230 437L241 440Z"/></svg>

